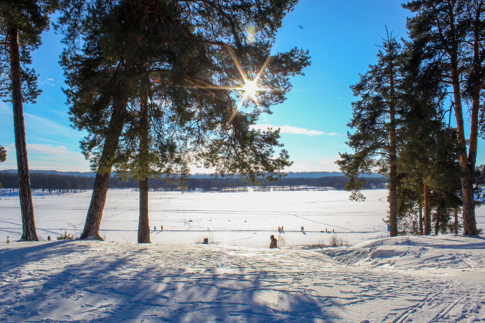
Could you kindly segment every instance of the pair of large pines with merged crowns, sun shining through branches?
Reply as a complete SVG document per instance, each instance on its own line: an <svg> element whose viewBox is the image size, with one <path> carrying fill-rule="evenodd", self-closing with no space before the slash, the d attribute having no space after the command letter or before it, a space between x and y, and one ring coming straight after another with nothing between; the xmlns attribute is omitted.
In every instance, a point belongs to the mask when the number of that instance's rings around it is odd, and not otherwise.
<svg viewBox="0 0 485 323"><path fill-rule="evenodd" d="M109 179L116 165L143 184L139 241L149 242L146 185L153 173L184 175L198 161L223 176L256 180L279 177L290 164L284 149L274 157L279 131L250 126L284 100L290 77L309 64L307 53L296 48L267 60L281 19L295 2L63 4L58 30L65 42L84 39L81 50L68 48L63 56L71 120L89 132L81 146L97 178ZM261 92L258 108L242 112L236 97L244 95L237 89L248 79L279 91ZM246 97L241 105L247 109L255 101ZM95 181L81 238L101 239L107 179Z"/></svg>

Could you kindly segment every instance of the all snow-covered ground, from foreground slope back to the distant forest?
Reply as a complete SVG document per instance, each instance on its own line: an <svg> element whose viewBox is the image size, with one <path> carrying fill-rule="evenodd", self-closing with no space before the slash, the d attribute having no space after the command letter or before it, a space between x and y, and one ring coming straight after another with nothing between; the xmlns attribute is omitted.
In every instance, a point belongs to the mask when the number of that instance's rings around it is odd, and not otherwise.
<svg viewBox="0 0 485 323"><path fill-rule="evenodd" d="M484 322L483 236L388 238L387 192L364 193L150 192L152 244L126 243L138 192L109 191L113 243L55 241L79 235L89 191L34 194L41 242L16 242L18 195L1 196L0 322ZM287 247L268 249L281 225ZM355 245L299 247L331 236Z"/></svg>

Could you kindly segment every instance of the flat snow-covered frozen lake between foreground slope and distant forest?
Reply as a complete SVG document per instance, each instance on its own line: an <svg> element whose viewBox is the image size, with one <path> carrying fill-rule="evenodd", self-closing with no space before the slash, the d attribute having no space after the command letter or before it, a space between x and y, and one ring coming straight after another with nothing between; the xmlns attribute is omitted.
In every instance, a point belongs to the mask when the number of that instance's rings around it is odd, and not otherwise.
<svg viewBox="0 0 485 323"><path fill-rule="evenodd" d="M79 236L91 193L34 193L40 240L47 240L48 235L55 239L65 230ZM137 242L138 194L131 189L108 192L100 230L107 241ZM321 232L325 229L335 230L351 244L388 236L382 221L388 210L387 190L366 190L364 195L365 202L356 202L345 191L150 192L151 242L194 243L208 237L226 245L262 247L269 244L271 234L278 237L278 226L285 229L279 236L287 246L327 242L331 234ZM1 196L0 213L0 241L7 235L13 241L19 239L18 194ZM478 227L485 226L484 219L483 208L478 208Z"/></svg>

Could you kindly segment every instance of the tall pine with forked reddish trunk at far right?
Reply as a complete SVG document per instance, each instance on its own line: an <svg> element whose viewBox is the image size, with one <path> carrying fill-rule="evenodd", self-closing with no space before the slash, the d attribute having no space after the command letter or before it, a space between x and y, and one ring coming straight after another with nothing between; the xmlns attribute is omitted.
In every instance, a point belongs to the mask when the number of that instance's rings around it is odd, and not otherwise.
<svg viewBox="0 0 485 323"><path fill-rule="evenodd" d="M441 81L452 87L457 142L460 147L463 234L476 235L473 172L476 163L478 114L483 100L485 61L484 0L414 0L404 8L416 13L408 19L409 36L423 48L428 64L439 68ZM482 96L482 97L481 97ZM471 101L467 154L463 102Z"/></svg>

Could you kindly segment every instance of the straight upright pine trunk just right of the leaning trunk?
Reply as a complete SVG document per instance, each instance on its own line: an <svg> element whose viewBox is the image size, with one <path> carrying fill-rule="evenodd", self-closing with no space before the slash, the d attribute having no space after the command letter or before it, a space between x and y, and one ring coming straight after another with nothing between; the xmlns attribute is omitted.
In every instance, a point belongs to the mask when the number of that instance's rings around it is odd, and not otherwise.
<svg viewBox="0 0 485 323"><path fill-rule="evenodd" d="M148 97L140 102L140 163L142 174L148 174ZM140 179L140 217L138 220L138 243L150 243L148 223L148 176Z"/></svg>

